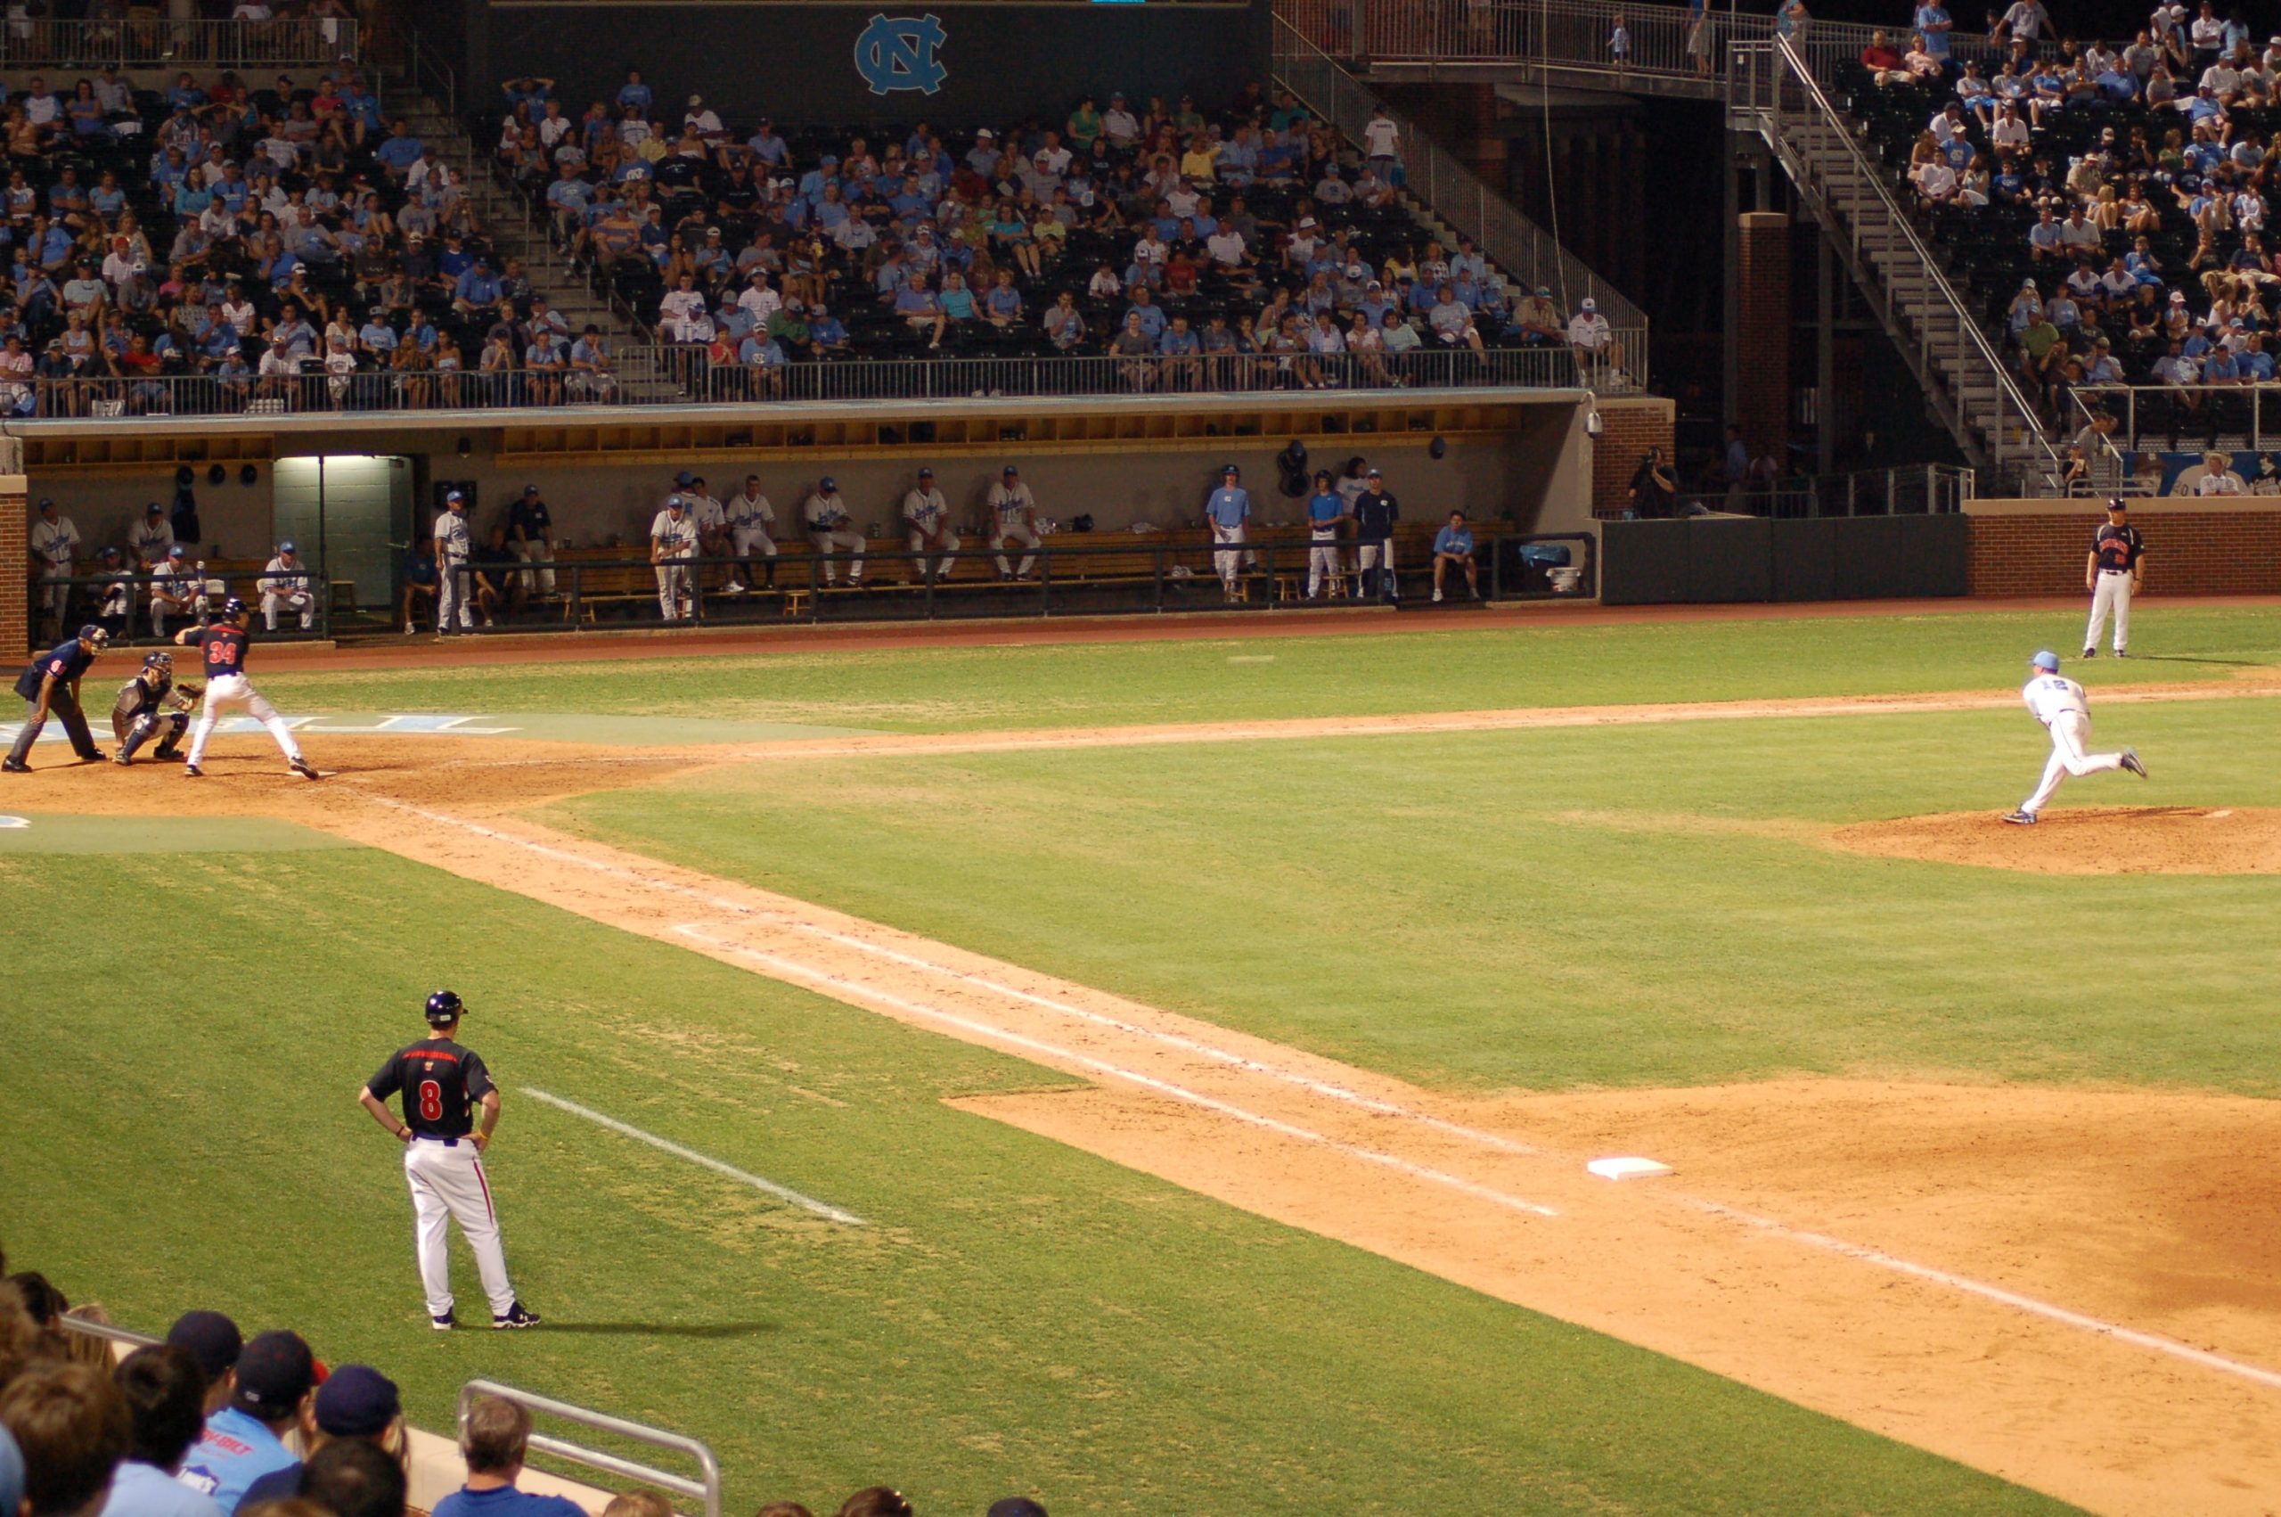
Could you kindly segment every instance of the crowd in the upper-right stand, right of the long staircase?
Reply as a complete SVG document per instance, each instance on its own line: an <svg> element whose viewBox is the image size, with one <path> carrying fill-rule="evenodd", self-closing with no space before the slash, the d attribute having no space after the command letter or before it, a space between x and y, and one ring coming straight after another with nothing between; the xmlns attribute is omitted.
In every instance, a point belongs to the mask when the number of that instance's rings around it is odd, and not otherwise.
<svg viewBox="0 0 2281 1517"><path fill-rule="evenodd" d="M2041 0L2012 0L1987 16L2000 62L1984 66L1953 57L1955 27L1925 0L1841 84L2023 390L2085 449L2112 422L2078 413L2080 386L2167 386L2162 420L2213 436L2247 415L2183 386L2270 383L2281 358L2265 244L2281 34L2165 0L2130 36L2078 41Z"/></svg>

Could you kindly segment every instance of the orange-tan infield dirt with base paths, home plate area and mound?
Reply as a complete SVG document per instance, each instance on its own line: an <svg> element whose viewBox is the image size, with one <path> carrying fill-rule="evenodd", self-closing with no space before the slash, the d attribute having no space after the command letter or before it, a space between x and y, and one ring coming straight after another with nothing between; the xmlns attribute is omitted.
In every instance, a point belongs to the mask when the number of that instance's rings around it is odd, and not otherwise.
<svg viewBox="0 0 2281 1517"><path fill-rule="evenodd" d="M1978 696L1941 700L1754 703L1747 714L1991 705ZM646 753L328 737L322 748L310 744L319 764L340 771L324 785L285 776L265 737L240 737L217 748L210 776L196 782L176 766L50 769L39 805L176 814L196 796L198 812L317 826L1047 1065L1072 1086L963 1104L2080 1506L2276 1510L2281 1287L2270 1262L2281 1250L2281 1106L2270 1102L1868 1081L1448 1097L516 814L554 796L684 782L693 766L826 751L965 753L1720 714L1745 712L1492 712ZM2078 812L2053 812L2060 817ZM1884 833L1868 842L1850 837L1861 828L1829 842L1943 858L1943 839L1971 839L2046 849L2057 860L2071 842L2119 826L2099 821L2110 812L2080 817L2080 828L2046 821L2032 830L1982 817L1911 819L1880 824ZM2272 844L2272 817L2235 817L2247 821L2153 812L2130 826L2146 837L2240 835L2249 855L2267 858L2256 849ZM2197 855L2206 860L2208 849L2197 844ZM2062 867L2021 862L2032 858L2012 853L2003 867ZM1585 1159L1610 1152L1663 1159L1677 1175L1622 1186L1585 1175ZM1882 1262L1870 1250L1882 1250Z"/></svg>

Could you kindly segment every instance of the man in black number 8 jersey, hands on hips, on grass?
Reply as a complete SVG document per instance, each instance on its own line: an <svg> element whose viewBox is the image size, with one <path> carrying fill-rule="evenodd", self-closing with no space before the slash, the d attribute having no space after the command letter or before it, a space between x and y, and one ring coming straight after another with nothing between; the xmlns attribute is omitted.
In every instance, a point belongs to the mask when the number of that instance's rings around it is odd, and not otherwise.
<svg viewBox="0 0 2281 1517"><path fill-rule="evenodd" d="M536 1328L538 1316L522 1309L516 1287L506 1282L500 1214L490 1209L490 1182L484 1179L484 1150L500 1125L500 1088L490 1084L481 1054L452 1040L463 1011L449 990L431 995L427 1020L433 1036L390 1054L356 1100L404 1145L404 1179L413 1189L413 1246L436 1332L458 1325L452 1314L452 1257L445 1250L445 1225L452 1220L474 1250L474 1271L490 1298L490 1325ZM399 1090L401 1122L388 1111L388 1097ZM474 1118L477 1109L481 1120Z"/></svg>

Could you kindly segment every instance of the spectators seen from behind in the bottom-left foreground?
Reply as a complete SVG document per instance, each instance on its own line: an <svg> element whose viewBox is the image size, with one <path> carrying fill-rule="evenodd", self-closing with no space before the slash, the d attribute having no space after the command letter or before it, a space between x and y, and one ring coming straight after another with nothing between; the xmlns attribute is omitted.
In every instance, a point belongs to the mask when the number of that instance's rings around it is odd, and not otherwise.
<svg viewBox="0 0 2281 1517"><path fill-rule="evenodd" d="M5 1271L5 1262L0 1262ZM326 1366L299 1332L246 1339L219 1312L185 1312L164 1344L121 1355L64 1319L39 1273L0 1277L0 1512L7 1517L411 1517L411 1437L395 1382L370 1364ZM518 1490L529 1412L486 1396L458 1437L465 1483L433 1517L586 1517L566 1496ZM839 1517L915 1517L871 1485ZM600 1517L673 1517L627 1492ZM771 1501L757 1517L812 1517ZM988 1517L1047 1517L1006 1496Z"/></svg>

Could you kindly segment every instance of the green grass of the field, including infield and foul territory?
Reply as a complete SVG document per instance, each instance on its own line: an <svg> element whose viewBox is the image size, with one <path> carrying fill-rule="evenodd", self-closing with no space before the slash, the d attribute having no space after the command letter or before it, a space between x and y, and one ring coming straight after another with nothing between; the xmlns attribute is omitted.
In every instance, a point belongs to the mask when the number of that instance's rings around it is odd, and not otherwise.
<svg viewBox="0 0 2281 1517"><path fill-rule="evenodd" d="M265 689L287 709L972 730L2000 689L2069 636L1848 618ZM2165 607L2142 636L2181 662L2101 662L2094 682L2281 662L2265 616ZM2073 782L2062 805L2281 805L2270 700L2099 723L2156 778ZM2014 876L1807 835L2010 805L2041 755L2012 712L1736 721L812 760L541 817L1442 1088L1807 1070L2272 1093L2281 1033L2256 1013L2281 967L2281 881ZM0 1241L125 1323L217 1305L299 1325L328 1360L383 1364L427 1426L481 1373L682 1428L719 1449L732 1510L826 1510L871 1481L928 1517L1010 1490L1056 1512L2060 1510L942 1104L1065 1084L1036 1065L388 853L212 851L210 824L185 851L105 837L0 849L0 944L21 967ZM2080 951L2103 933L2128 933L2135 983L2160 992L2085 995ZM550 1316L534 1335L427 1332L397 1154L354 1106L438 983L477 1008L465 1036L509 1090L493 1175L518 1284ZM474 1303L463 1255L456 1273Z"/></svg>

